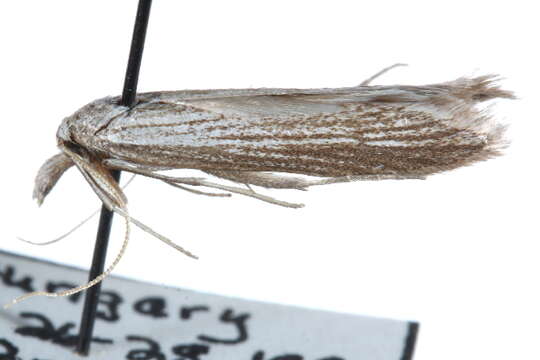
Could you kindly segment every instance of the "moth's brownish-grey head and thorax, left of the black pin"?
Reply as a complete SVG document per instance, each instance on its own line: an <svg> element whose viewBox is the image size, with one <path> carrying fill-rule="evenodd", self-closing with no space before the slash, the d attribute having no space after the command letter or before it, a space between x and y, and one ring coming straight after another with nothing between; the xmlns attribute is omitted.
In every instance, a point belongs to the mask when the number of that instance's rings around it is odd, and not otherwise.
<svg viewBox="0 0 540 360"><path fill-rule="evenodd" d="M76 143L88 147L94 136L115 117L128 111L118 104L118 97L106 97L84 105L71 116L66 117L56 133L58 145Z"/></svg>

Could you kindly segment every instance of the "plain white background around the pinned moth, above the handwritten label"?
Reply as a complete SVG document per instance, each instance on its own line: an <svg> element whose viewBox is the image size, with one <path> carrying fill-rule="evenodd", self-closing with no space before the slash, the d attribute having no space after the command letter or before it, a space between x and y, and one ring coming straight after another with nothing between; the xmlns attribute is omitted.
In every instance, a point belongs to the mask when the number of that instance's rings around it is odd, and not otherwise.
<svg viewBox="0 0 540 360"><path fill-rule="evenodd" d="M421 322L417 360L539 359L537 11L532 1L155 0L140 91L341 87L406 62L377 84L501 74L517 101L505 156L426 181L267 191L300 210L201 197L137 178L130 210L200 256L135 230L116 270L244 298ZM39 166L63 117L120 93L136 1L0 5L1 248L89 265L99 207L74 169L38 209ZM189 172L185 172L189 173ZM124 174L123 179L128 175ZM123 237L115 222L112 258Z"/></svg>

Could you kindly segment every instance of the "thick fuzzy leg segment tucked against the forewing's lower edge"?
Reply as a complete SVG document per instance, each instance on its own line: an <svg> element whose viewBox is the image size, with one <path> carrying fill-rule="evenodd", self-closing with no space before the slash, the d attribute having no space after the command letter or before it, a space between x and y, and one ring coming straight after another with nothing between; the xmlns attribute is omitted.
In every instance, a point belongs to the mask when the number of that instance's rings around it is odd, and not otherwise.
<svg viewBox="0 0 540 360"><path fill-rule="evenodd" d="M306 179L292 176L279 176L266 172L222 170L205 170L204 172L237 183L262 186L268 189L296 189L305 191L310 185L309 180Z"/></svg>

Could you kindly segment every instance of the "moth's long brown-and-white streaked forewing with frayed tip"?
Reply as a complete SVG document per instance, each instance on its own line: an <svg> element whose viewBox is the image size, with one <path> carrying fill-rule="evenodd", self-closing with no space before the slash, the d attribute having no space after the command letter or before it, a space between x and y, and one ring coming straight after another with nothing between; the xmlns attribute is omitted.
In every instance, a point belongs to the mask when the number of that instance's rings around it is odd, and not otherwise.
<svg viewBox="0 0 540 360"><path fill-rule="evenodd" d="M511 96L492 77L423 87L149 93L85 142L134 165L228 179L244 172L236 177L252 185L260 181L246 172L425 176L491 156L498 128L486 126L475 104Z"/></svg>

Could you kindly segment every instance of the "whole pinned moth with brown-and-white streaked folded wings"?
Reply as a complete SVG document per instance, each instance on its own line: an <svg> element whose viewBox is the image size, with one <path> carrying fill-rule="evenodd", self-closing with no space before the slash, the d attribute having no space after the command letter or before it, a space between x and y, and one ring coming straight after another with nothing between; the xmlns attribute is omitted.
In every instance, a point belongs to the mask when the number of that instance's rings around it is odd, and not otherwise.
<svg viewBox="0 0 540 360"><path fill-rule="evenodd" d="M139 94L132 108L119 105L119 97L95 100L60 124L60 153L39 170L34 197L41 204L76 166L103 204L126 218L128 229L133 222L152 232L128 215L127 198L110 170L199 194L226 195L198 190L213 188L300 207L251 185L305 190L353 180L419 179L500 153L505 127L476 106L514 97L497 85L497 76L369 85L398 65L353 87L150 92ZM160 173L170 169L197 169L246 188Z"/></svg>

